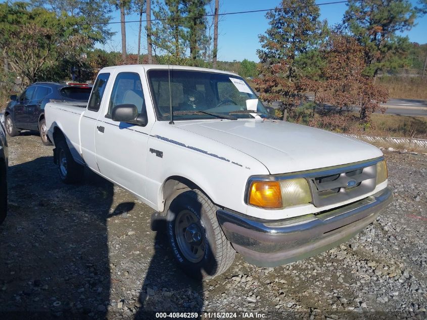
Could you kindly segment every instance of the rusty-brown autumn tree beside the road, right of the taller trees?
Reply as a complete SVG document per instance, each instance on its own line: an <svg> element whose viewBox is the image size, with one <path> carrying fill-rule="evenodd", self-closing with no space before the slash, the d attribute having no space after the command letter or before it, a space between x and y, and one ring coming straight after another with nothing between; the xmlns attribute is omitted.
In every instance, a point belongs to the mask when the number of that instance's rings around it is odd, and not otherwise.
<svg viewBox="0 0 427 320"><path fill-rule="evenodd" d="M330 129L344 128L346 122L354 122L351 115L345 115L352 106L360 107L359 123L370 125L373 112L385 111L380 103L387 101L387 90L374 83L373 78L363 75L366 65L363 48L352 37L333 34L321 48L326 61L321 69L320 80L307 80L307 90L316 93L315 102L331 106L331 112L311 119L310 125ZM353 130L352 130L353 131Z"/></svg>

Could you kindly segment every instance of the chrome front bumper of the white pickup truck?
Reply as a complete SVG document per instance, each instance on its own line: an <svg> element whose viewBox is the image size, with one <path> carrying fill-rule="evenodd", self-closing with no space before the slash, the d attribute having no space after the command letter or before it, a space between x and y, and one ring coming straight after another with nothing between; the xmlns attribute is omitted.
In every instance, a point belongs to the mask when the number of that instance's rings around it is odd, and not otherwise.
<svg viewBox="0 0 427 320"><path fill-rule="evenodd" d="M329 250L356 235L393 200L386 188L363 200L320 214L264 220L227 210L217 217L225 237L245 259L276 266Z"/></svg>

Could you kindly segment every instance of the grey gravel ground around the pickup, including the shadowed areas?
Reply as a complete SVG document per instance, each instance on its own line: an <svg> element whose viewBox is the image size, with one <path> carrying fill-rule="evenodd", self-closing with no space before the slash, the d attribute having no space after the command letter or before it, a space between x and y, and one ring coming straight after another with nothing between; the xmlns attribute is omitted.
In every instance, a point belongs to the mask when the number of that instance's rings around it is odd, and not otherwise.
<svg viewBox="0 0 427 320"><path fill-rule="evenodd" d="M91 172L63 185L38 136L24 132L9 145L0 318L427 318L426 155L385 151L394 202L349 242L275 268L237 255L226 273L200 283L150 230L148 206Z"/></svg>

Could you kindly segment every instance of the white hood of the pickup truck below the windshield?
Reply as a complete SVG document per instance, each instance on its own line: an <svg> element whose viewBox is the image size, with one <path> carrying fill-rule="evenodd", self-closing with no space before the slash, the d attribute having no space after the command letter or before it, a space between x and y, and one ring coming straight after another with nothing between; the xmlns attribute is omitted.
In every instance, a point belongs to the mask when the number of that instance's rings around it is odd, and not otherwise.
<svg viewBox="0 0 427 320"><path fill-rule="evenodd" d="M260 161L271 174L380 157L377 148L344 135L277 120L177 121L175 125Z"/></svg>

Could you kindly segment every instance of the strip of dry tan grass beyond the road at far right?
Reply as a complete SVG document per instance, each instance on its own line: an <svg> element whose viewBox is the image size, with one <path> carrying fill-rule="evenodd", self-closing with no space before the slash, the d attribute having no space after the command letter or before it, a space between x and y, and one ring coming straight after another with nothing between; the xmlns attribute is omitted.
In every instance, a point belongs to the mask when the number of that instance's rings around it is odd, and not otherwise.
<svg viewBox="0 0 427 320"><path fill-rule="evenodd" d="M427 77L379 77L378 83L389 91L389 98L427 100Z"/></svg>

